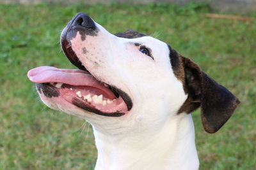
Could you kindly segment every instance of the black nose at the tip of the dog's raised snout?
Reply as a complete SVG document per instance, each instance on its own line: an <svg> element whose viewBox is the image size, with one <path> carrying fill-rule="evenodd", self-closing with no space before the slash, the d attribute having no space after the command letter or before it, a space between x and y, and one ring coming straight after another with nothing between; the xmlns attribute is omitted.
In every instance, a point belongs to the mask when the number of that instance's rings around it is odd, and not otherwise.
<svg viewBox="0 0 256 170"><path fill-rule="evenodd" d="M95 23L86 13L77 13L74 18L73 26L81 26L84 27L84 29L95 29Z"/></svg>

